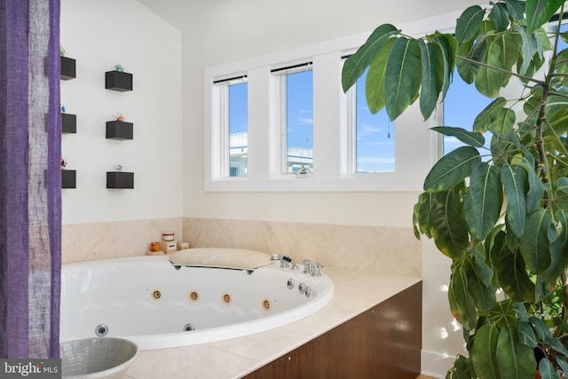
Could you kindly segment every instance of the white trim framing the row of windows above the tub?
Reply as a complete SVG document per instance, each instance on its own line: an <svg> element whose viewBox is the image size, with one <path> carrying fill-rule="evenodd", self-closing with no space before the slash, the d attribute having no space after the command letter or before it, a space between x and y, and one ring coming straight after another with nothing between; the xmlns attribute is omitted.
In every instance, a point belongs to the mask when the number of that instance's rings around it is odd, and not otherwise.
<svg viewBox="0 0 568 379"><path fill-rule="evenodd" d="M459 12L400 25L409 35L431 32L430 25L450 28ZM204 71L204 186L205 191L220 192L421 192L422 182L431 164L439 157L438 133L430 127L439 124L441 112L430 121L422 121L417 104L397 120L395 172L373 174L353 173L355 159L352 145L354 136L346 128L348 117L346 96L341 90L341 57L353 51L367 39L367 33L348 36L324 43L316 43L290 51L280 51L262 57L207 67ZM279 159L282 156L281 130L273 91L278 90L279 78L271 74L271 67L285 66L286 62L312 60L313 62L313 162L314 172L309 178L281 175ZM219 130L219 96L212 85L229 73L248 74L248 177L224 177L220 166L221 146ZM335 76L332 76L335 75ZM333 78L335 77L335 82ZM275 90L276 88L276 90ZM280 89L281 90L281 89ZM269 96L271 94L271 96ZM255 132L255 136L253 136ZM322 140L323 139L323 140ZM252 146L254 145L254 146ZM349 158L351 157L351 158ZM430 158L430 159L428 159ZM350 161L351 160L351 161Z"/></svg>

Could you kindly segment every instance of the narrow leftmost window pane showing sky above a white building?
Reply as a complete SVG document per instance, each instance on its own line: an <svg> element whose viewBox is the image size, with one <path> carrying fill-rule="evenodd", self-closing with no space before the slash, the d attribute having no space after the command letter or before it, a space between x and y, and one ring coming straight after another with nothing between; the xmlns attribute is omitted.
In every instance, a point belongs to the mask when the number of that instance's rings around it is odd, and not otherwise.
<svg viewBox="0 0 568 379"><path fill-rule="evenodd" d="M229 85L229 176L248 176L247 83Z"/></svg>

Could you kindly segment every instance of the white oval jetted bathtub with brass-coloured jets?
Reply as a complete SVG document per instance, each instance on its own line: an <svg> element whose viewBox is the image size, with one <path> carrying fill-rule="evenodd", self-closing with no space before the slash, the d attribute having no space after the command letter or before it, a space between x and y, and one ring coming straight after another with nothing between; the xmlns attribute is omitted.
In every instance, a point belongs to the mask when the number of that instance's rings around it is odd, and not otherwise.
<svg viewBox="0 0 568 379"><path fill-rule="evenodd" d="M63 265L60 340L114 336L141 350L209 343L300 320L333 297L325 273L266 257L256 269L175 266L169 256Z"/></svg>

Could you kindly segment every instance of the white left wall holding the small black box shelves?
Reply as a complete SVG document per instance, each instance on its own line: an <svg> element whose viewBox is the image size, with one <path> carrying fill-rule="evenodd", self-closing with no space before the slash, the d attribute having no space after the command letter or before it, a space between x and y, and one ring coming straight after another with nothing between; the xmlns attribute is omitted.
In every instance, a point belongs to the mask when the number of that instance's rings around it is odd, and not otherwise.
<svg viewBox="0 0 568 379"><path fill-rule="evenodd" d="M61 45L77 77L61 82L61 103L77 114L62 136L77 188L63 190L63 224L182 215L181 35L135 0L62 0ZM105 90L105 72L122 63L133 91ZM105 138L120 112L134 139ZM134 172L134 189L107 190L106 171Z"/></svg>

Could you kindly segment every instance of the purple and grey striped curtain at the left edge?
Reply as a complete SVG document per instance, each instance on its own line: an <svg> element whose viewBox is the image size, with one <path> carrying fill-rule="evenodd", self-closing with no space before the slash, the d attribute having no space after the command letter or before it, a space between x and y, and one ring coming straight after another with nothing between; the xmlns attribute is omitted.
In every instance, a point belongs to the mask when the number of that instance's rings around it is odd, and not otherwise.
<svg viewBox="0 0 568 379"><path fill-rule="evenodd" d="M0 358L59 358L59 0L0 0Z"/></svg>

